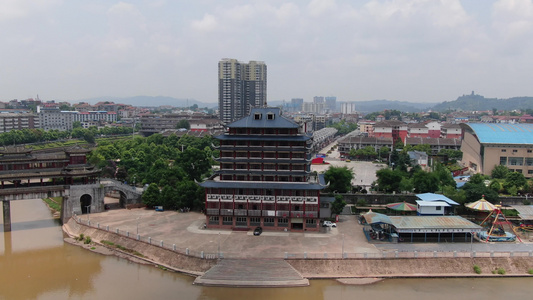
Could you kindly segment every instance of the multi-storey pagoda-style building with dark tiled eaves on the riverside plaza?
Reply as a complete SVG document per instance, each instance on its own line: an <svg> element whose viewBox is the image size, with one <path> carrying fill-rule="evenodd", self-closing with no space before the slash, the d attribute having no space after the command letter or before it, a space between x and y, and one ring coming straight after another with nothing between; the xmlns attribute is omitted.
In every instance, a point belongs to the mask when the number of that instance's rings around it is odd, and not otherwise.
<svg viewBox="0 0 533 300"><path fill-rule="evenodd" d="M312 137L296 122L279 108L252 108L216 138L220 170L200 183L207 227L319 230L325 185L311 174Z"/></svg>

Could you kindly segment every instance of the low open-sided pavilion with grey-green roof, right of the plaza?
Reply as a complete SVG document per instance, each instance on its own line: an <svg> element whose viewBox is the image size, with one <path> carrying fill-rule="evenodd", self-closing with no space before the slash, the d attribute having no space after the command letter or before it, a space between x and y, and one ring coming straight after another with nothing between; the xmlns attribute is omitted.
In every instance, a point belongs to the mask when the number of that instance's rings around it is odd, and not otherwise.
<svg viewBox="0 0 533 300"><path fill-rule="evenodd" d="M363 215L367 224L386 224L389 234L404 242L469 242L483 228L460 216ZM374 226L375 228L375 226Z"/></svg>

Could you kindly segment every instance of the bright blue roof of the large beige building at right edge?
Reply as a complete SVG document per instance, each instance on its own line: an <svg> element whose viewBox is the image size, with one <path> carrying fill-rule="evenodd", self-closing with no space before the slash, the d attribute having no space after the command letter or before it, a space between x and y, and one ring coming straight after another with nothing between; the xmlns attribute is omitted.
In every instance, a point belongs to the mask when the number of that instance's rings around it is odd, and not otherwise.
<svg viewBox="0 0 533 300"><path fill-rule="evenodd" d="M483 144L533 144L533 124L468 123Z"/></svg>

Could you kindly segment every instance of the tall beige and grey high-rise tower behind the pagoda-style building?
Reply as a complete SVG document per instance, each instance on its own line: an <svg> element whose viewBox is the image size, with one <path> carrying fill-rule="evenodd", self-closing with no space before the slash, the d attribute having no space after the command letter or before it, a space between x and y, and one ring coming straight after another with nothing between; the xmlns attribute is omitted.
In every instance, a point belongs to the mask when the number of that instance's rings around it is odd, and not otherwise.
<svg viewBox="0 0 533 300"><path fill-rule="evenodd" d="M218 63L219 118L225 123L239 120L252 107L266 106L267 67L264 62L248 63L224 58Z"/></svg>

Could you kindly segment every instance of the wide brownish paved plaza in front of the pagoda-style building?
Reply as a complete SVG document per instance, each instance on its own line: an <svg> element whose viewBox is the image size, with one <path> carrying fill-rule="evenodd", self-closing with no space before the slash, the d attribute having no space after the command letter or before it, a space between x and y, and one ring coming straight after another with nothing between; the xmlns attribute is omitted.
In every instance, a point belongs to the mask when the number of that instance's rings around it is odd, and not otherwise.
<svg viewBox="0 0 533 300"><path fill-rule="evenodd" d="M156 212L151 209L117 209L79 216L84 223L117 228L134 237L137 232L154 243L175 244L199 253L222 253L225 258L284 258L285 253L323 257L347 253L377 253L366 241L362 226L355 216L340 216L337 228L321 227L319 232L279 232L265 230L260 236L253 231L204 229L205 216L197 212ZM138 230L138 231L137 231Z"/></svg>

